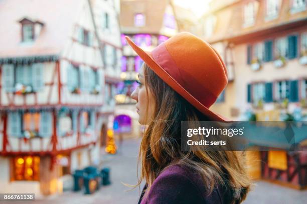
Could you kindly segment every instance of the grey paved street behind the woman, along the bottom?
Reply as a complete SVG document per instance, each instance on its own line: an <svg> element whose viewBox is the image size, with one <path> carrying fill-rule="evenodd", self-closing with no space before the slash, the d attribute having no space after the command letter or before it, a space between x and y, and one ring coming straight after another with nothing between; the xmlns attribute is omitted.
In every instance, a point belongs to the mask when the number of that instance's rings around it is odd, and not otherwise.
<svg viewBox="0 0 307 204"><path fill-rule="evenodd" d="M50 196L44 200L36 200L34 203L136 203L139 191L138 188L127 191L129 187L122 184L135 184L136 158L140 140L131 139L123 141L122 148L115 155L103 155L105 166L111 168L111 185L103 186L99 191L92 195L84 195L83 191L64 192L60 196ZM307 200L307 190L299 191L291 188L282 187L265 181L256 183L254 189L248 194L244 204L253 203L305 203ZM12 202L8 202L12 204ZM20 203L20 202L18 202Z"/></svg>

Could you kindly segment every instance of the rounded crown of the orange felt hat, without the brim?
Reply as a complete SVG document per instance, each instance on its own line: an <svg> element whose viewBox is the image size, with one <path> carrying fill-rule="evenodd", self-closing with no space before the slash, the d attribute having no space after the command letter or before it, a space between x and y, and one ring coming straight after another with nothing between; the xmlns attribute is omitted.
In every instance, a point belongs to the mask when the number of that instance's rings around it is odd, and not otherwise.
<svg viewBox="0 0 307 204"><path fill-rule="evenodd" d="M227 69L220 55L210 44L189 32L169 38L152 50L152 55L183 88L207 107L216 101L227 85Z"/></svg>

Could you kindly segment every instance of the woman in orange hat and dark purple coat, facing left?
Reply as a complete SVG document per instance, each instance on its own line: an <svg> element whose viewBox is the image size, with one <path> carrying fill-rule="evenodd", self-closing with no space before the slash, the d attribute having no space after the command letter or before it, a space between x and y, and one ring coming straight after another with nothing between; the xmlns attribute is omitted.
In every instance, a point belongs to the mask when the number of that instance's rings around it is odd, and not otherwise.
<svg viewBox="0 0 307 204"><path fill-rule="evenodd" d="M250 183L240 152L181 146L181 121L226 121L209 110L228 82L219 54L188 32L151 52L126 40L144 61L131 93L138 121L147 125L139 151L138 185L146 181L139 203L243 201Z"/></svg>

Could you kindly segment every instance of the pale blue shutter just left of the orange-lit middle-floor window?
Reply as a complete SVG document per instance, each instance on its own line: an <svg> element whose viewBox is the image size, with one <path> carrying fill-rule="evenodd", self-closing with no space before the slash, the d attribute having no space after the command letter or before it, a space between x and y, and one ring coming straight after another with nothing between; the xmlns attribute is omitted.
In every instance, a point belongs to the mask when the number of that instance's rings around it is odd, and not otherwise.
<svg viewBox="0 0 307 204"><path fill-rule="evenodd" d="M9 112L9 128L8 134L12 137L22 137L22 123L21 123L21 116L20 112L14 111Z"/></svg>

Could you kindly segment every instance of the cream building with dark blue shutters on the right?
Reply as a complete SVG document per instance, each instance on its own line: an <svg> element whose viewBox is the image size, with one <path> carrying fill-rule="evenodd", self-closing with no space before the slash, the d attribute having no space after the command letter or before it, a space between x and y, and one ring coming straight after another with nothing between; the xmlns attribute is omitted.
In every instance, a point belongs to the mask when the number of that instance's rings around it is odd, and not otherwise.
<svg viewBox="0 0 307 204"><path fill-rule="evenodd" d="M306 120L306 8L305 0L211 1L201 36L221 54L229 76L212 110L233 120ZM303 151L247 155L252 177L307 185Z"/></svg>

